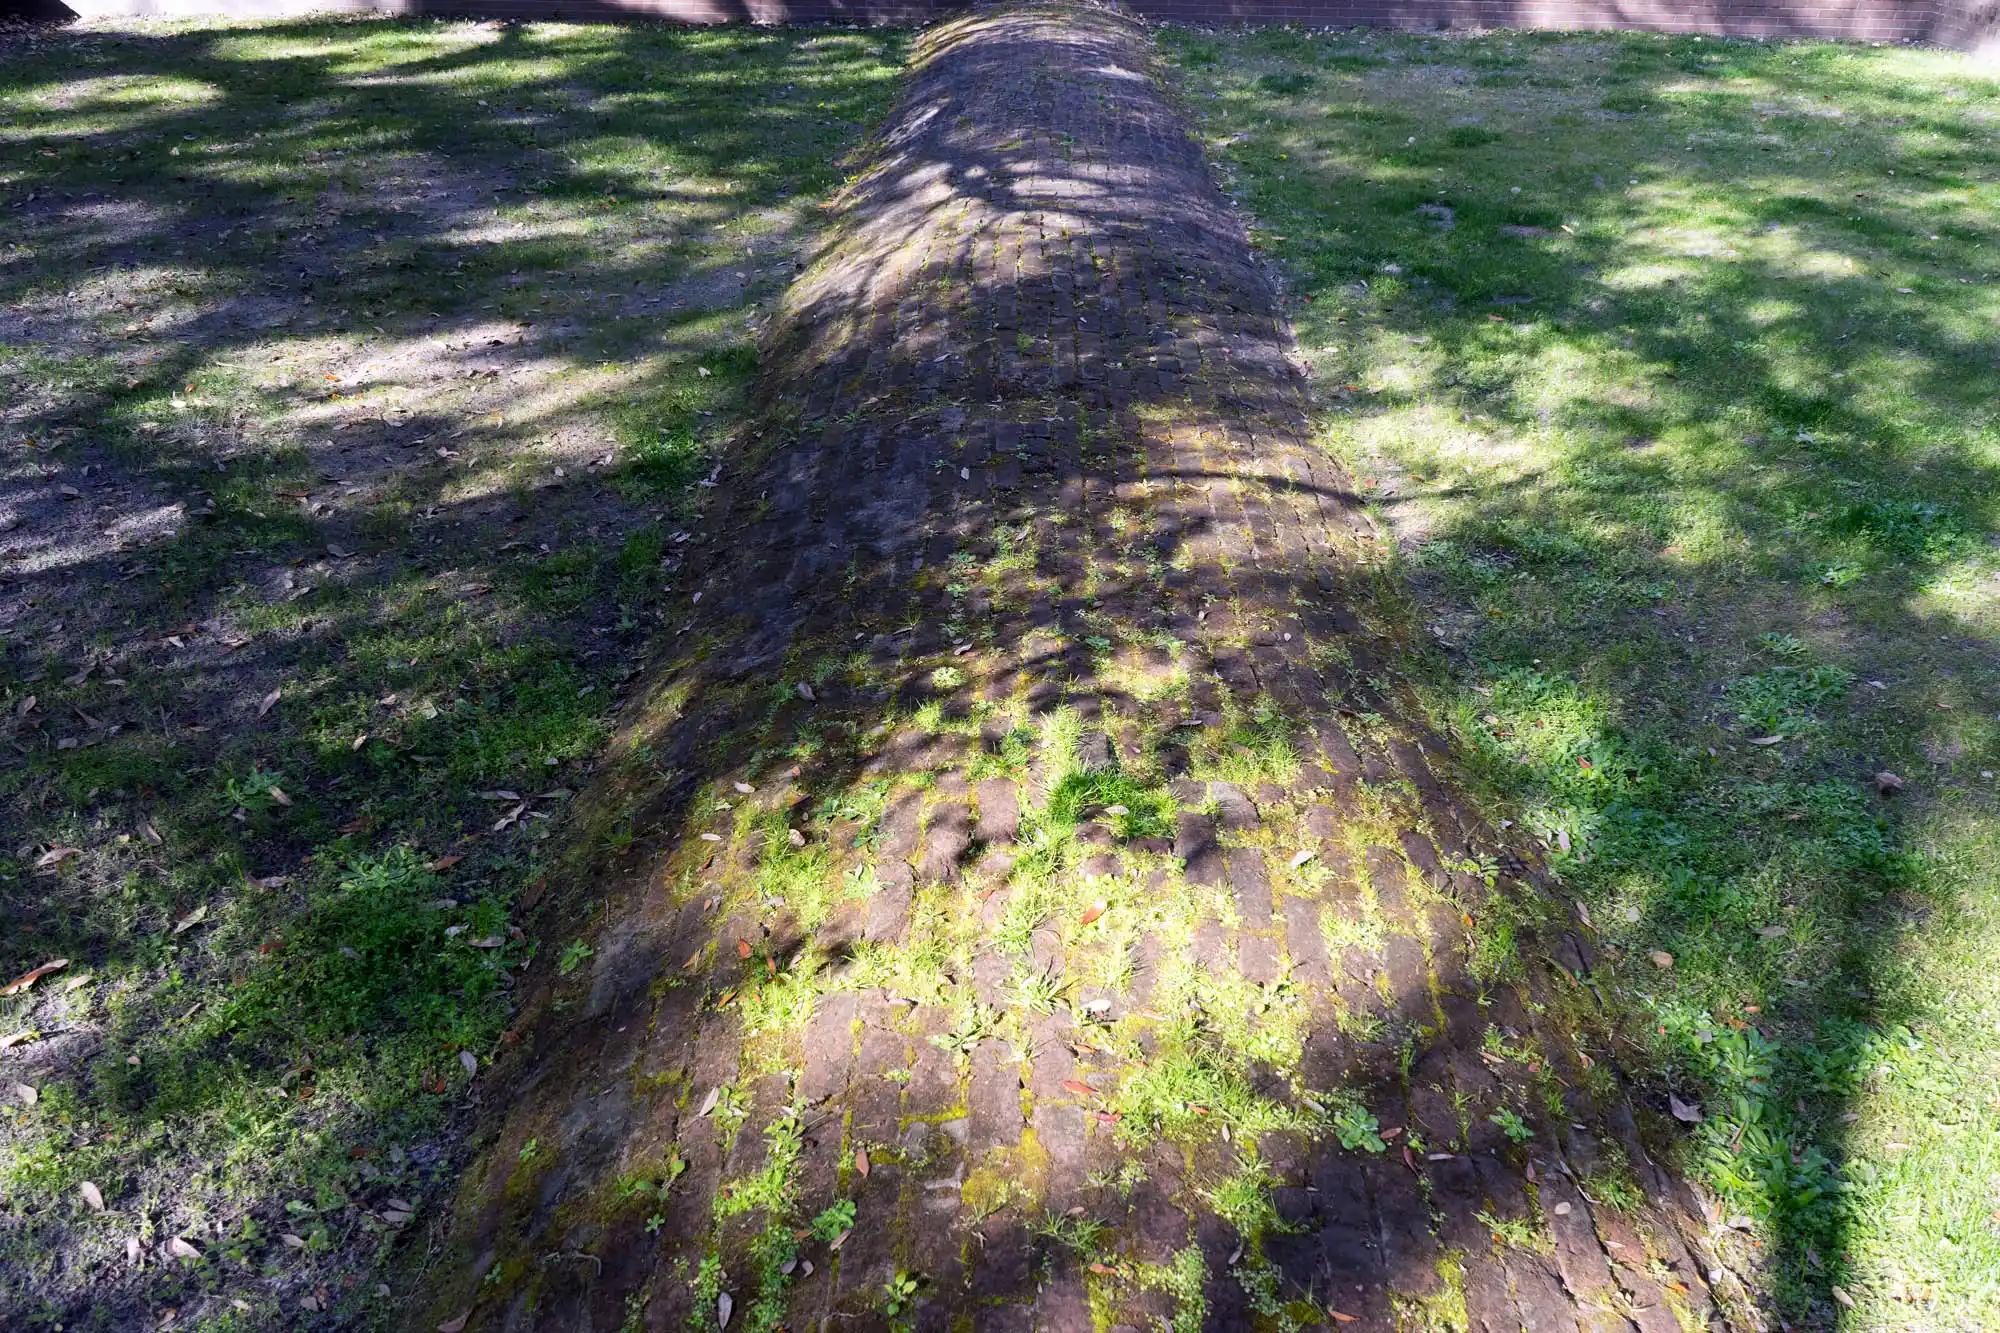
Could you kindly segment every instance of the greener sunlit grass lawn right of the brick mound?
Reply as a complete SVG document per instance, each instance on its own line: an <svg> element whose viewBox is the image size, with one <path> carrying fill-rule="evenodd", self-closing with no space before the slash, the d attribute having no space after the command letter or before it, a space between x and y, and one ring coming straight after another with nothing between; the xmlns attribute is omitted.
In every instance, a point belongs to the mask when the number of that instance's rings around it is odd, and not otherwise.
<svg viewBox="0 0 2000 1333"><path fill-rule="evenodd" d="M1996 1327L2000 82L1164 40L1718 1227L1804 1327Z"/></svg>

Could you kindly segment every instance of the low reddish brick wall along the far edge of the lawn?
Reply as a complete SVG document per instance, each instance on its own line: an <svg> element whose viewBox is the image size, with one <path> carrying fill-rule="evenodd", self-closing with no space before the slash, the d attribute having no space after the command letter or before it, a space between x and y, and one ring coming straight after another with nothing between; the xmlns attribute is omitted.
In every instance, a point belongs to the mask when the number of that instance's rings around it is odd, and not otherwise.
<svg viewBox="0 0 2000 1333"><path fill-rule="evenodd" d="M56 0L48 0L56 2ZM920 24L960 0L66 0L114 14L472 14L672 22ZM1628 28L1848 42L1936 42L2000 62L2000 0L1128 0L1156 20L1370 28ZM6 8L6 0L0 0Z"/></svg>

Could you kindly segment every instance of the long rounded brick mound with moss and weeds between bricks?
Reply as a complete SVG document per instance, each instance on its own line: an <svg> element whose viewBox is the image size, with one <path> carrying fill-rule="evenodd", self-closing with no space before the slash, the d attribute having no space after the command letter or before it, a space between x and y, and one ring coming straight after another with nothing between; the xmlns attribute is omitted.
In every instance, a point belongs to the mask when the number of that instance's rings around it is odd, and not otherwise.
<svg viewBox="0 0 2000 1333"><path fill-rule="evenodd" d="M420 1327L1732 1323L1150 60L1108 10L924 38ZM1476 971L1488 915L1568 971Z"/></svg>

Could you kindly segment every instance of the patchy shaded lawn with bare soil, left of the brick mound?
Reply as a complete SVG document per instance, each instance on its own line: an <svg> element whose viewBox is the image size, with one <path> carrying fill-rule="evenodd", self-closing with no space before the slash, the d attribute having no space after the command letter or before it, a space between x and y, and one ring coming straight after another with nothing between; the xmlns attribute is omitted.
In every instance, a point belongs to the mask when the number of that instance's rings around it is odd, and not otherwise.
<svg viewBox="0 0 2000 1333"><path fill-rule="evenodd" d="M0 1325L380 1315L900 50L0 44Z"/></svg>

